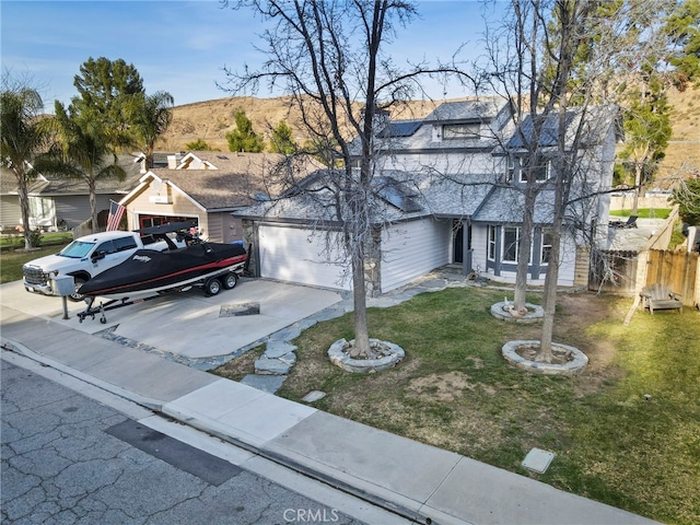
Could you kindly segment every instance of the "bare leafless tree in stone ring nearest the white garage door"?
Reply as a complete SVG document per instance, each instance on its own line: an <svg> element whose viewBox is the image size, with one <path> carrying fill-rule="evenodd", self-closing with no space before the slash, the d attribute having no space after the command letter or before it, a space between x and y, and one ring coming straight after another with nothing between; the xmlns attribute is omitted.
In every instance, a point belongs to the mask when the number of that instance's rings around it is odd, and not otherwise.
<svg viewBox="0 0 700 525"><path fill-rule="evenodd" d="M231 91L255 91L260 82L282 89L301 112L308 143L337 147L319 155L341 163L328 174L324 190L332 195L328 206L352 272L355 342L351 353L368 355L365 258L381 220L371 206L376 184L376 117L392 104L409 100L413 89L419 89L416 79L425 72L420 68L401 71L385 56L384 47L394 35L394 24L408 23L416 9L408 1L395 0L229 3L234 9L249 8L271 24L261 34L268 60L258 71L246 69L238 74L226 70L234 84ZM357 113L358 103L362 115ZM353 136L357 168L350 162ZM299 185L296 189L304 191Z"/></svg>

